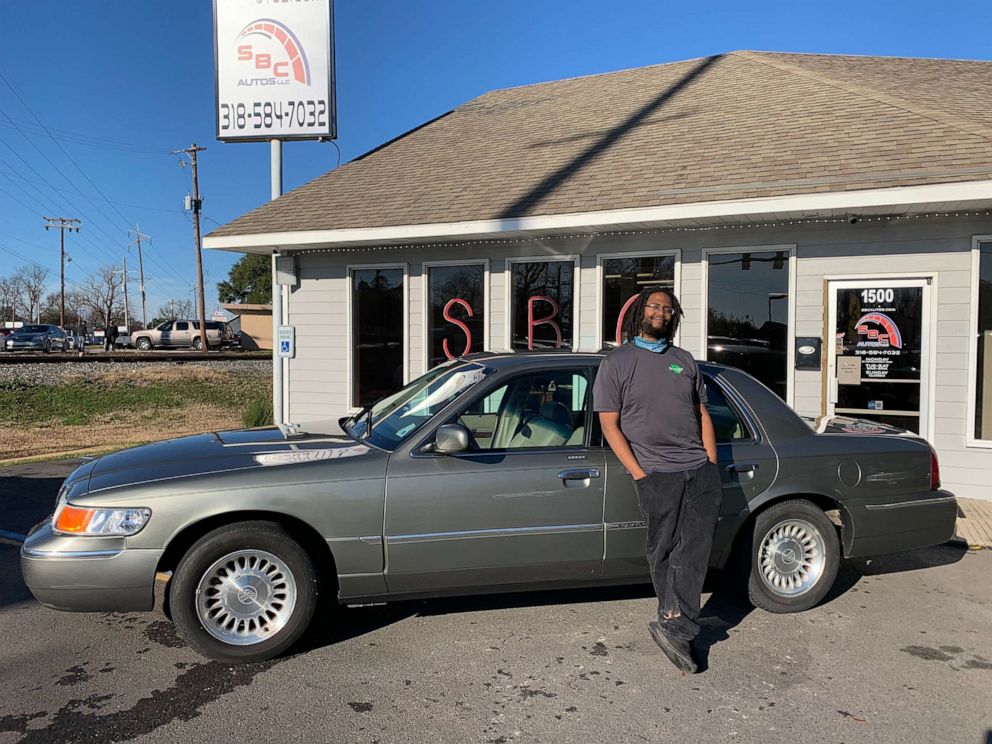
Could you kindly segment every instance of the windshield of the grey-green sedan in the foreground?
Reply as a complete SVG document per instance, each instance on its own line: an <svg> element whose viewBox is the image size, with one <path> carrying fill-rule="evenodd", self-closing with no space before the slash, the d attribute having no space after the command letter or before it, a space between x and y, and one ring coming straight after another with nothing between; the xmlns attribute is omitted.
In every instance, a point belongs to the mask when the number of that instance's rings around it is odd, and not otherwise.
<svg viewBox="0 0 992 744"><path fill-rule="evenodd" d="M476 362L447 362L352 416L345 430L357 440L394 449L456 397L495 370Z"/></svg>

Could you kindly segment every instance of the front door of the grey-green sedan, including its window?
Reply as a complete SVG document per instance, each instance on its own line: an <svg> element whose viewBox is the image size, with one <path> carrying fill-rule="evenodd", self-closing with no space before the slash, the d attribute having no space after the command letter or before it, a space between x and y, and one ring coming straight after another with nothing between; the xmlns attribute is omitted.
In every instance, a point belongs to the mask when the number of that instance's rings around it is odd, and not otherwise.
<svg viewBox="0 0 992 744"><path fill-rule="evenodd" d="M588 367L504 375L439 422L472 432L467 451L390 458L390 592L601 575L603 451L587 446L590 383Z"/></svg>

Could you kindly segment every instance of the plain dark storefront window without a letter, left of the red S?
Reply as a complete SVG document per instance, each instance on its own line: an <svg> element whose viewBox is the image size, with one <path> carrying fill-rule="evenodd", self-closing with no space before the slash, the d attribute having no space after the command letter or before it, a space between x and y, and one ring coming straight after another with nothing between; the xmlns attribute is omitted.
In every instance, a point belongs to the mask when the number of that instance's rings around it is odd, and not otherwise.
<svg viewBox="0 0 992 744"><path fill-rule="evenodd" d="M403 269L351 272L353 406L403 387Z"/></svg>

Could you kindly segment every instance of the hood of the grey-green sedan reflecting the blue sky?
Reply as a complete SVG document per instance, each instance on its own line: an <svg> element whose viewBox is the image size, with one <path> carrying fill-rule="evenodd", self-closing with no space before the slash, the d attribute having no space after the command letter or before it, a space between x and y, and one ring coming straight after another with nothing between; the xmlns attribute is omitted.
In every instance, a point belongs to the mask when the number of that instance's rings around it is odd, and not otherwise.
<svg viewBox="0 0 992 744"><path fill-rule="evenodd" d="M252 468L366 456L345 434L284 433L276 427L197 434L114 452L87 464L88 491Z"/></svg>

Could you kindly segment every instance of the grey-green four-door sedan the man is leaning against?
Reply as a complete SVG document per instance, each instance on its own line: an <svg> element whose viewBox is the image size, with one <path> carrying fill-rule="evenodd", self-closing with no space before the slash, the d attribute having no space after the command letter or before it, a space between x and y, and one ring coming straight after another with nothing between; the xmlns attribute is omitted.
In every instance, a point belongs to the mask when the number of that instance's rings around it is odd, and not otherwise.
<svg viewBox="0 0 992 744"><path fill-rule="evenodd" d="M645 521L592 412L601 359L477 354L337 422L92 460L25 541L25 582L56 609L131 612L169 574L180 634L227 662L287 649L324 592L349 605L646 582ZM842 556L953 535L923 439L853 419L815 431L748 374L701 369L724 492L711 564L740 571L757 607L808 609Z"/></svg>

